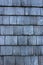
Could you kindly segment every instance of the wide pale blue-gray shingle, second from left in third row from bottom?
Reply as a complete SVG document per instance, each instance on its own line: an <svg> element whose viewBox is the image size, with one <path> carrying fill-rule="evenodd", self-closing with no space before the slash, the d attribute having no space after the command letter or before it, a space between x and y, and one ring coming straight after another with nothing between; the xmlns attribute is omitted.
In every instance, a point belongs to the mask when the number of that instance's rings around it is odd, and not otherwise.
<svg viewBox="0 0 43 65"><path fill-rule="evenodd" d="M17 45L17 36L6 36L5 45Z"/></svg>

